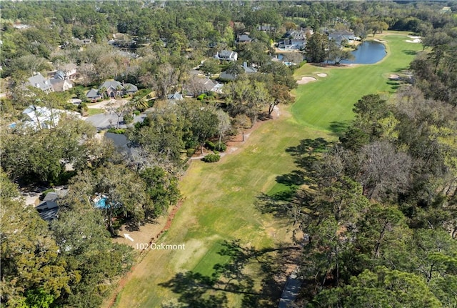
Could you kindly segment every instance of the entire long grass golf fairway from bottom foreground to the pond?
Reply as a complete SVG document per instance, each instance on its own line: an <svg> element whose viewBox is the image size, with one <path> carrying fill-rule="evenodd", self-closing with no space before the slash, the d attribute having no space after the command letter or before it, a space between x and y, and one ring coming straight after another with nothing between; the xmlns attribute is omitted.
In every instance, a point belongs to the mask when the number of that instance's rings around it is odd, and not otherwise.
<svg viewBox="0 0 457 308"><path fill-rule="evenodd" d="M189 307L241 307L246 294L213 289L201 295L201 279L210 279L215 264L226 264L233 258L221 254L226 247L224 241L239 240L242 247L252 246L256 251L291 244L291 226L272 214L262 214L254 205L256 198L262 192L276 193L288 188L276 179L295 168L293 157L286 153L289 146L307 138L335 139L331 124L350 120L352 104L363 94L388 94L394 90L393 85L387 84L388 75L405 69L413 59L411 52L406 51L421 49L421 45L403 42L404 34L389 34L383 39L388 40L390 50L378 64L347 69L322 69L306 64L297 77L315 76L318 72L328 76L300 86L296 90L296 104L280 106L279 119L261 124L243 144L237 145L238 151L226 155L221 162L191 164L180 183L184 204L169 231L158 241L185 244L186 249L151 250L146 254L119 294L116 307L161 307L178 299ZM284 267L278 262L276 265ZM184 274L186 271L189 272ZM264 279L268 272L250 265L238 275L251 278L251 289L258 292L268 283ZM224 294L229 302L226 306L214 304L217 299L213 298L214 302L209 303L209 294ZM190 302L195 298L199 304Z"/></svg>

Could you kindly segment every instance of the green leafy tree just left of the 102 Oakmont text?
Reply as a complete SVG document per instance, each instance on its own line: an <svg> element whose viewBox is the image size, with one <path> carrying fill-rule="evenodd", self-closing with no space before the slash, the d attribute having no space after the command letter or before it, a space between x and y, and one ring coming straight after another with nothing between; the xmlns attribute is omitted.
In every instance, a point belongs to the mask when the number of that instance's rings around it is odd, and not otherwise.
<svg viewBox="0 0 457 308"><path fill-rule="evenodd" d="M101 211L81 199L61 207L59 219L50 228L61 259L76 280L56 304L100 307L110 286L133 264L131 247L111 242Z"/></svg>

